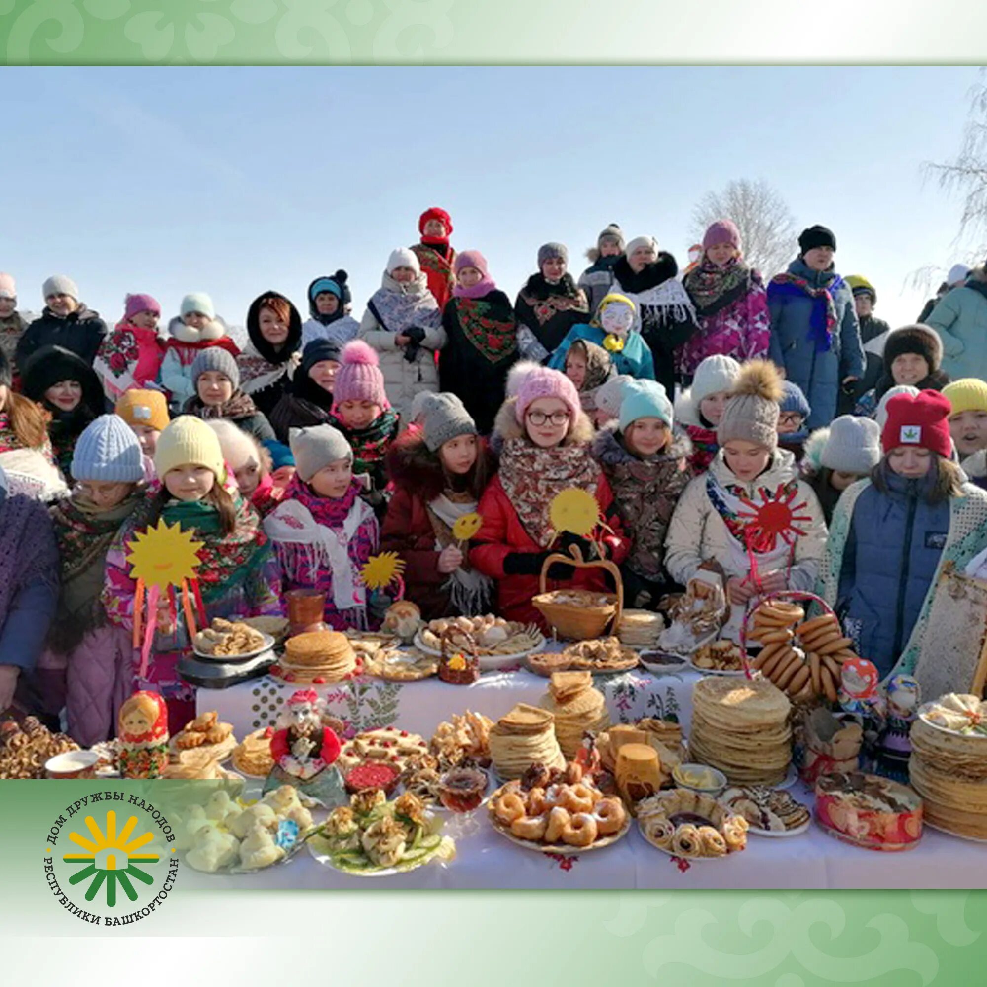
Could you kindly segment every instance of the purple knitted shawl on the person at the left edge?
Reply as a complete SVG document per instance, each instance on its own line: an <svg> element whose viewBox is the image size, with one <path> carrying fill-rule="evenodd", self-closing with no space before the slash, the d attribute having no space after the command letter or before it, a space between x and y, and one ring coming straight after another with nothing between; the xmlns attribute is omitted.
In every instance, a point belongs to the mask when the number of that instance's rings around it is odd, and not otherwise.
<svg viewBox="0 0 987 987"><path fill-rule="evenodd" d="M51 522L32 497L0 490L0 628L23 586L58 584L58 557L48 545Z"/></svg>

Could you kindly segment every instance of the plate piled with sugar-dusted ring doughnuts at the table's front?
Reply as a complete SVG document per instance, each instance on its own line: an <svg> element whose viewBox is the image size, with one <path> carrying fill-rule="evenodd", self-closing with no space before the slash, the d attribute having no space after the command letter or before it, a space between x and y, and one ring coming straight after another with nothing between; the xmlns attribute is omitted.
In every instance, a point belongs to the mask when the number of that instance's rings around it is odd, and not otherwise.
<svg viewBox="0 0 987 987"><path fill-rule="evenodd" d="M546 786L530 785L535 779L525 777L497 789L487 803L493 828L529 850L565 855L601 850L623 838L631 816L621 799L604 796L576 764L569 763L566 773L566 781L553 781L549 773Z"/></svg>

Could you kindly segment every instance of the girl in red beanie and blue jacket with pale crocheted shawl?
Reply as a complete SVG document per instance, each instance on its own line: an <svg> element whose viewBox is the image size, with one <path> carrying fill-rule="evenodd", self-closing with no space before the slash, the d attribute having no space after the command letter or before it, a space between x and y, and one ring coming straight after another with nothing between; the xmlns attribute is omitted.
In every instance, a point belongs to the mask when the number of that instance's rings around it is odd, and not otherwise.
<svg viewBox="0 0 987 987"><path fill-rule="evenodd" d="M949 411L936 391L892 398L883 458L833 514L819 595L881 678L914 671L943 565L987 545L987 493L949 458Z"/></svg>

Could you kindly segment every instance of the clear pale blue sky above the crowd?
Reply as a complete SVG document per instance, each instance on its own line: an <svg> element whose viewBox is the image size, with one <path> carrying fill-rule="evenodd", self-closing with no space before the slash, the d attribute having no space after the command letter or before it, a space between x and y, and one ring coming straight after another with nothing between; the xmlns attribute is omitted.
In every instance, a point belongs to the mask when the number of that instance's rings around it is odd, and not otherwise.
<svg viewBox="0 0 987 987"><path fill-rule="evenodd" d="M873 281L892 325L921 307L913 270L961 259L958 205L920 166L958 148L974 68L3 73L0 269L36 311L58 271L108 320L127 291L169 316L205 290L242 323L267 288L304 313L342 266L358 316L433 204L511 296L539 244L578 272L611 221L684 266L694 204L741 177L830 226L837 269Z"/></svg>

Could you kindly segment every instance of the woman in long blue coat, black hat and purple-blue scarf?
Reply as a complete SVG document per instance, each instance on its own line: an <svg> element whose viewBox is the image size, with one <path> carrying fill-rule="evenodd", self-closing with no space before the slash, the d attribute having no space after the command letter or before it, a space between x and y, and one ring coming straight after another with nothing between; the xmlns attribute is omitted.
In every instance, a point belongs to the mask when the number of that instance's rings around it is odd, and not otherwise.
<svg viewBox="0 0 987 987"><path fill-rule="evenodd" d="M811 430L836 417L840 388L863 376L864 348L853 293L833 269L836 237L825 226L810 226L798 249L788 271L768 285L768 352L808 399Z"/></svg>

